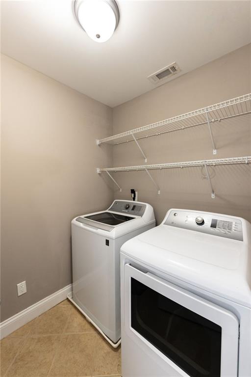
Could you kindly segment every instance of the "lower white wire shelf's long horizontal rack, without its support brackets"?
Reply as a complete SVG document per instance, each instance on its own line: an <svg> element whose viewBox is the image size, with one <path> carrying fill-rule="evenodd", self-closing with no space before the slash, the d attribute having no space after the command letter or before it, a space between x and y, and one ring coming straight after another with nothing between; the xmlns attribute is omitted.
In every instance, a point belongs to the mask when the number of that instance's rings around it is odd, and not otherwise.
<svg viewBox="0 0 251 377"><path fill-rule="evenodd" d="M156 163L151 165L137 165L137 166L120 166L120 167L104 167L104 168L97 168L97 173L101 173L102 171L134 171L134 170L151 170L151 169L168 169L168 168L176 168L176 167L192 167L192 166L204 166L211 165L230 165L230 164L238 164L238 163L250 163L251 156L246 157L229 157L226 159L212 159L212 160L199 160L199 161L186 161L186 162L168 162L168 163Z"/></svg>

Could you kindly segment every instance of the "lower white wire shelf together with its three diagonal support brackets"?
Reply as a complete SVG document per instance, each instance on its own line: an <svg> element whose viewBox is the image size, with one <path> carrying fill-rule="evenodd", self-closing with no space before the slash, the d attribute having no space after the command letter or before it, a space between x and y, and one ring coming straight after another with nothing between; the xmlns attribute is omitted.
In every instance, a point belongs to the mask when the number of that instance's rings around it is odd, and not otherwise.
<svg viewBox="0 0 251 377"><path fill-rule="evenodd" d="M206 179L209 182L211 188L211 197L215 198L215 192L212 186L211 177L208 173L207 166L216 166L216 165L232 165L232 164L241 164L245 163L248 164L251 162L251 156L245 157L228 157L226 159L212 159L212 160L199 160L199 161L186 161L186 162L168 162L168 163L156 163L151 165L137 165L137 166L120 166L120 167L104 167L104 168L97 168L97 173L100 174L102 172L106 172L108 176L112 179L115 185L122 191L122 188L119 186L117 181L111 176L110 172L118 172L118 171L138 171L138 170L145 170L148 174L149 178L151 179L154 186L157 188L158 194L160 194L160 188L158 187L157 183L152 178L149 170L154 169L170 169L170 168L184 168L184 167L196 167L196 166L204 166Z"/></svg>

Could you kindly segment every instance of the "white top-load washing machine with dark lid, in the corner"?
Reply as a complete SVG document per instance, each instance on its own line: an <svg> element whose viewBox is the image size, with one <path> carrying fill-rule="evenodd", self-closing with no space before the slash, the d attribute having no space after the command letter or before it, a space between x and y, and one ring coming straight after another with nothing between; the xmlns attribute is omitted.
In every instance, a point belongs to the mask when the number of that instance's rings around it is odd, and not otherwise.
<svg viewBox="0 0 251 377"><path fill-rule="evenodd" d="M120 344L120 247L155 226L151 205L115 200L107 211L72 220L75 306L113 346Z"/></svg>

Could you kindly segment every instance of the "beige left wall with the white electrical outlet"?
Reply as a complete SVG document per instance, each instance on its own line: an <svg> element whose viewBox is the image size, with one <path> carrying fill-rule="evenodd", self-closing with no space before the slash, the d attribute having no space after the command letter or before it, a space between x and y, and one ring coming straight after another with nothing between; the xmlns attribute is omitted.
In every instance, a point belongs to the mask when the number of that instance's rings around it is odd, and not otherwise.
<svg viewBox="0 0 251 377"><path fill-rule="evenodd" d="M71 219L107 207L107 106L2 55L1 321L71 283ZM27 293L16 284L26 280Z"/></svg>

